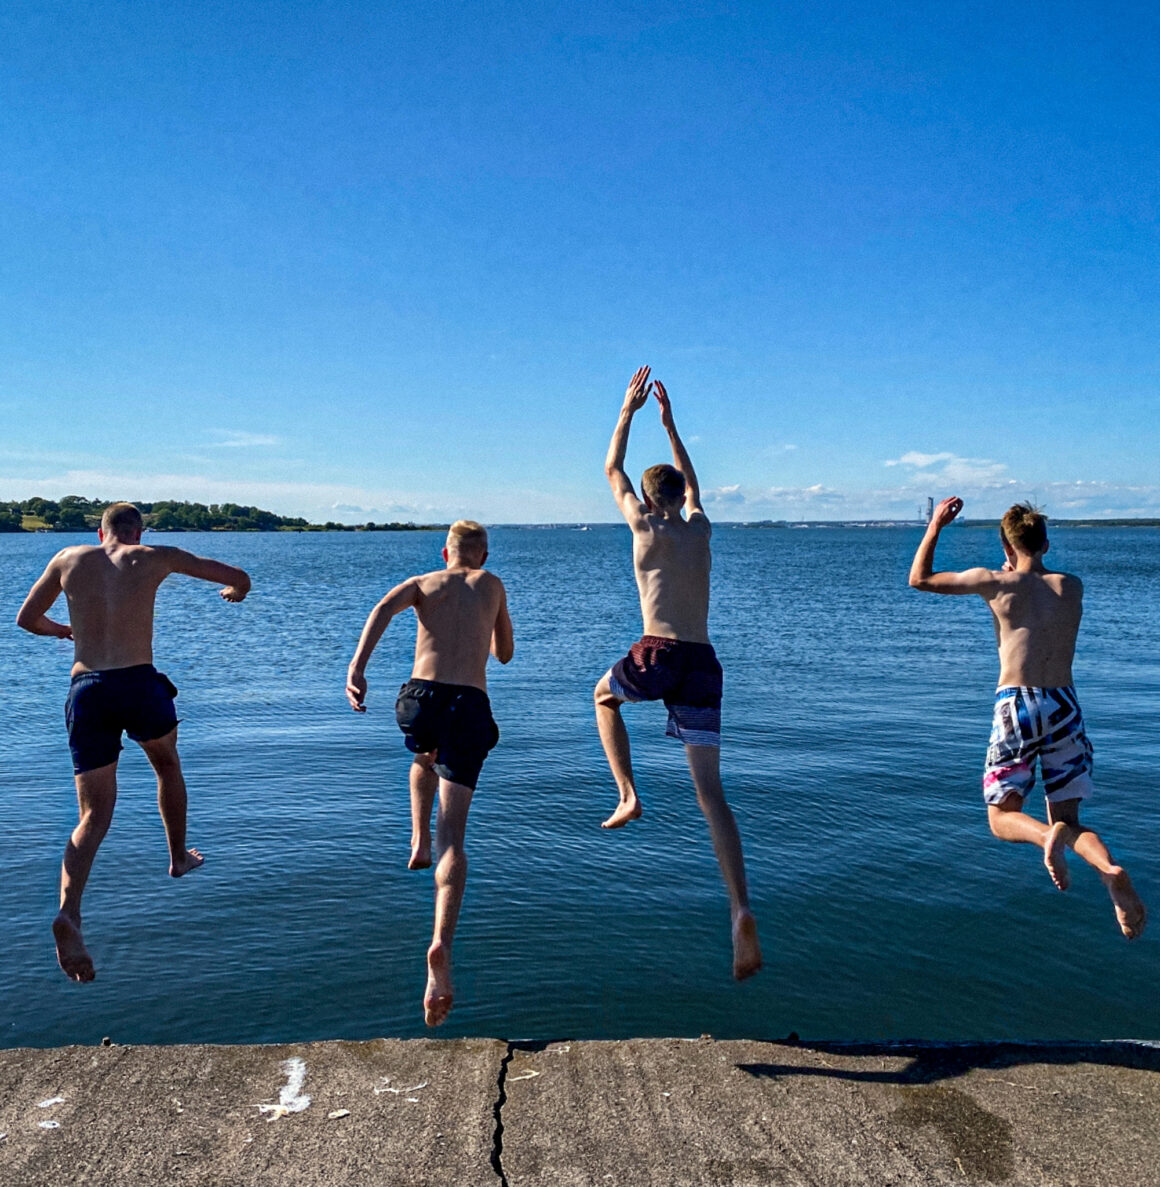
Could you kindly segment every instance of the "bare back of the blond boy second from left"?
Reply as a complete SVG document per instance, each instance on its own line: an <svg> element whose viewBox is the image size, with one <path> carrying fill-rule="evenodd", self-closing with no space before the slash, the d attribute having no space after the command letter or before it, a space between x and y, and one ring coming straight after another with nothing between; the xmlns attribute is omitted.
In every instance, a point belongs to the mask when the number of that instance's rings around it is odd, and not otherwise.
<svg viewBox="0 0 1160 1187"><path fill-rule="evenodd" d="M465 684L487 691L492 635L506 598L503 583L483 569L452 567L412 577L417 680Z"/></svg>

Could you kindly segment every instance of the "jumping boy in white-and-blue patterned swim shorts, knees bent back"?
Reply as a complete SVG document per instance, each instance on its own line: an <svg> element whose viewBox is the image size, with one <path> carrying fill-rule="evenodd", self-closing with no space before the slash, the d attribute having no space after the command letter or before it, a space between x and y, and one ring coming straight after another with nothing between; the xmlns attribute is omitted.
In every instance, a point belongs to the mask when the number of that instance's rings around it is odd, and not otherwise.
<svg viewBox="0 0 1160 1187"><path fill-rule="evenodd" d="M991 832L1000 840L1038 845L1052 882L1066 890L1067 849L1094 867L1111 895L1120 929L1129 940L1143 932L1147 914L1123 867L1099 837L1079 823L1079 801L1091 795L1091 743L1084 732L1071 661L1083 612L1083 583L1044 566L1047 525L1016 503L1000 526L1007 563L1001 570L936 573L939 532L963 509L944 499L911 565L911 585L930 594L977 594L990 608L999 642L999 690L983 799ZM1023 812L1039 760L1047 823Z"/></svg>

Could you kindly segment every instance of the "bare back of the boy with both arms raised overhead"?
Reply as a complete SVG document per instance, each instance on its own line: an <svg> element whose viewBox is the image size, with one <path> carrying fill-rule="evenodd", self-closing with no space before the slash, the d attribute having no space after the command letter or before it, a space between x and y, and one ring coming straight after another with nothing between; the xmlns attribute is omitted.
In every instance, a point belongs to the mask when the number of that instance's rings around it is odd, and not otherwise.
<svg viewBox="0 0 1160 1187"><path fill-rule="evenodd" d="M647 512L630 526L644 634L708 643L709 520Z"/></svg>

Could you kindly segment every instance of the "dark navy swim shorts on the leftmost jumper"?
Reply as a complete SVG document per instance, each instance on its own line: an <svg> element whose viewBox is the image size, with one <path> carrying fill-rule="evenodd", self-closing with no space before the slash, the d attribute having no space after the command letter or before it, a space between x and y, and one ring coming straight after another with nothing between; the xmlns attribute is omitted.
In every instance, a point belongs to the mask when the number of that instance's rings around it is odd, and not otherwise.
<svg viewBox="0 0 1160 1187"><path fill-rule="evenodd" d="M72 677L64 703L72 769L81 775L116 762L122 730L134 742L165 737L177 725L176 696L177 688L152 664Z"/></svg>

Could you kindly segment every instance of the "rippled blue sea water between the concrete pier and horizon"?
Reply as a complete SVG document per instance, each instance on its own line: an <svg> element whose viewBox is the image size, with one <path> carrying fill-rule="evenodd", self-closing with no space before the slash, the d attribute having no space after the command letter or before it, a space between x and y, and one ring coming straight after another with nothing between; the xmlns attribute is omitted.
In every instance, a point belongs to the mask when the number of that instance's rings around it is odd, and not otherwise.
<svg viewBox="0 0 1160 1187"><path fill-rule="evenodd" d="M516 654L492 674L503 736L471 810L457 1004L440 1034L1160 1037L1160 534L1058 529L1052 552L1088 589L1086 819L1153 902L1135 945L1089 870L1061 895L1032 849L989 837L990 620L975 598L906 588L917 539L717 531L723 774L767 961L736 985L727 899L661 706L626 712L645 819L598 827L615 795L590 690L639 631L627 531L493 533ZM62 542L0 537L6 623ZM85 896L99 977L64 979L49 923L75 823L70 647L0 629L0 1046L424 1033L431 875L404 868L407 755L392 712L410 618L372 661L366 717L343 683L373 603L436 567L442 540L165 542L254 578L240 607L185 578L159 598L158 666L180 687L190 843L207 867L166 877L153 780L129 744ZM946 567L1000 560L991 533L969 528L939 552Z"/></svg>

